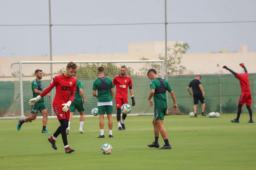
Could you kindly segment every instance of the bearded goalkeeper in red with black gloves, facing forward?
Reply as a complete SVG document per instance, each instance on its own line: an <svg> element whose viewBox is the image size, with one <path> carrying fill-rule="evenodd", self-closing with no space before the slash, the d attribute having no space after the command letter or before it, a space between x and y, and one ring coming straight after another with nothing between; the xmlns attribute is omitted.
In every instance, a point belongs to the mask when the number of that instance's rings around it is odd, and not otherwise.
<svg viewBox="0 0 256 170"><path fill-rule="evenodd" d="M127 72L125 66L121 66L119 75L115 76L113 79L113 85L116 85L116 92L115 92L115 103L116 103L116 119L118 124L118 130L125 130L124 120L127 114L122 114L122 122L121 122L121 106L125 103L128 103L127 96L128 96L128 86L130 90L130 94L132 97L132 106L135 105L133 89L132 89L132 79L131 77L127 76L125 73ZM121 128L122 125L122 128Z"/></svg>

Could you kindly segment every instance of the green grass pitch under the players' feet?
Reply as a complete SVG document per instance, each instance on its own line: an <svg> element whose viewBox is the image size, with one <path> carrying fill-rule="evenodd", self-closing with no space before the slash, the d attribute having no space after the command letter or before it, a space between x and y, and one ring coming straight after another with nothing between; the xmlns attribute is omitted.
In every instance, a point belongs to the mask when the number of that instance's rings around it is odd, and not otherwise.
<svg viewBox="0 0 256 170"><path fill-rule="evenodd" d="M118 131L113 117L114 138L100 135L99 118L85 118L84 134L78 132L79 119L72 119L69 146L64 151L61 135L57 150L47 141L50 134L42 134L42 119L24 123L18 120L0 121L0 169L255 169L256 123L247 123L249 114L241 114L240 123L231 123L236 114L219 118L191 118L188 115L166 116L164 126L172 149L158 150L147 145L154 140L153 116L127 117L126 130ZM108 136L107 118L104 118ZM59 126L57 119L48 119L47 130ZM110 143L110 155L100 147ZM164 144L159 138L160 147Z"/></svg>

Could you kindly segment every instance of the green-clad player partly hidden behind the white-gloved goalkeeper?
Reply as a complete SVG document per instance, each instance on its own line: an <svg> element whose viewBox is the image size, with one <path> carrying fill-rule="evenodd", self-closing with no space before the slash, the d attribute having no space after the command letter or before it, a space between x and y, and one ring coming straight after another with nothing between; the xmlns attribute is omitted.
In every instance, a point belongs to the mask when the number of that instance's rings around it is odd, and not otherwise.
<svg viewBox="0 0 256 170"><path fill-rule="evenodd" d="M77 79L77 72L74 73L73 77ZM74 111L77 109L77 111L80 113L80 127L79 132L83 133L83 123L84 123L84 103L86 103L86 100L84 98L83 94L83 84L79 80L77 80L77 87L76 87L76 93L75 98L73 102L71 103L69 110L70 110L70 117L68 121L68 128L66 129L67 135L70 134L70 123L71 119L73 117Z"/></svg>

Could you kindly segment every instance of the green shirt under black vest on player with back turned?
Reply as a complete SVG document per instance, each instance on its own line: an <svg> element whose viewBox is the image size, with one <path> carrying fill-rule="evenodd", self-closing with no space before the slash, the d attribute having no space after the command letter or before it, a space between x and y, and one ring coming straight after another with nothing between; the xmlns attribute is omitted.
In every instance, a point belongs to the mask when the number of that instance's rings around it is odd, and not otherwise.
<svg viewBox="0 0 256 170"><path fill-rule="evenodd" d="M105 77L105 83L110 88L114 88L113 82L110 78ZM98 78L94 80L92 85L92 90L97 90L101 86L101 79ZM98 90L98 102L110 102L112 101L111 91L110 90Z"/></svg>

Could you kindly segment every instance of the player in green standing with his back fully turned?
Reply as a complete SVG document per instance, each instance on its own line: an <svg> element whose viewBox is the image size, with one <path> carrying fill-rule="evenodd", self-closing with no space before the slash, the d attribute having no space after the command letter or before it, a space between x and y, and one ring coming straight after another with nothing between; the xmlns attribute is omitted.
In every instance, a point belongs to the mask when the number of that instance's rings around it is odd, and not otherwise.
<svg viewBox="0 0 256 170"><path fill-rule="evenodd" d="M108 77L104 76L104 68L98 68L99 78L94 80L92 85L92 95L97 97L98 99L98 113L100 117L100 136L98 138L104 138L104 114L107 113L108 117L108 125L109 125L109 137L113 137L112 128L113 128L113 103L112 98L114 95L114 86L112 80ZM98 95L96 94L96 90L98 90Z"/></svg>

